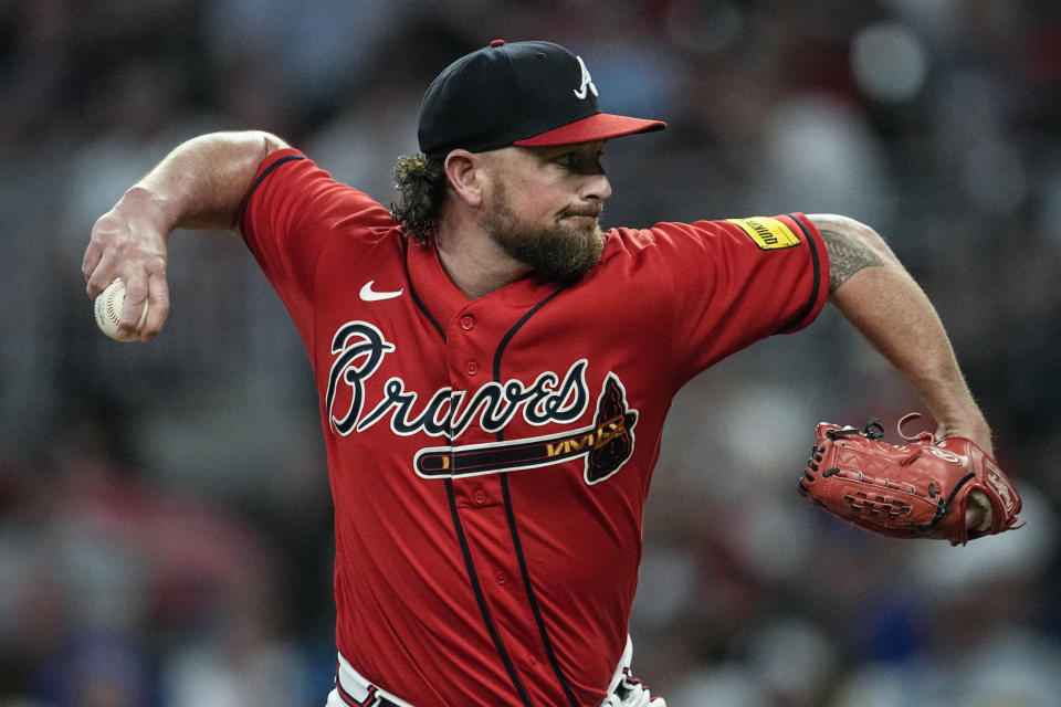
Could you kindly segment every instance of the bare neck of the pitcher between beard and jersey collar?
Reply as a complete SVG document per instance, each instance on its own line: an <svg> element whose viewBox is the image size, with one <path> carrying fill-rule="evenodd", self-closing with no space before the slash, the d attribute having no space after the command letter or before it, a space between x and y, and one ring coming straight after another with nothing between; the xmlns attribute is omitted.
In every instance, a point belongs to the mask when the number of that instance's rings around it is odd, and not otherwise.
<svg viewBox="0 0 1061 707"><path fill-rule="evenodd" d="M525 277L530 268L508 255L479 223L443 219L434 234L439 262L450 281L475 299Z"/></svg>

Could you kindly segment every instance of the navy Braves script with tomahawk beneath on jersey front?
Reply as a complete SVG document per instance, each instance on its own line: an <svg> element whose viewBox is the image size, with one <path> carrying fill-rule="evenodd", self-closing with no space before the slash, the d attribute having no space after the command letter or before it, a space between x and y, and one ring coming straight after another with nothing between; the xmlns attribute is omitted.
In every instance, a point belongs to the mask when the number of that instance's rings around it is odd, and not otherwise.
<svg viewBox="0 0 1061 707"><path fill-rule="evenodd" d="M379 384L372 397L366 388L396 348L368 321L349 321L336 331L332 345L336 357L325 394L335 432L364 432L387 419L398 435L422 432L452 439L473 422L487 432L500 432L516 414L542 426L578 420L587 409L586 359L576 361L563 378L545 371L529 386L515 379L504 384L490 381L475 391L441 388L421 395L395 377ZM418 400L426 402L418 408ZM630 458L637 420L637 411L627 409L622 383L609 373L588 428L493 444L427 447L417 452L411 465L424 478L451 478L538 468L585 456L586 483L596 484Z"/></svg>

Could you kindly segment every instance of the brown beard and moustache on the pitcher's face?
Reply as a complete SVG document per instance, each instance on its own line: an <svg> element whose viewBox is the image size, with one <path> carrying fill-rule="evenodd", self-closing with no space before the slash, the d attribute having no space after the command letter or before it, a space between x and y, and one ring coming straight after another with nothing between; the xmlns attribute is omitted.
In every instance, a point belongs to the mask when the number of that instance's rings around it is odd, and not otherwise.
<svg viewBox="0 0 1061 707"><path fill-rule="evenodd" d="M528 265L542 277L575 282L592 270L605 250L600 233L601 208L565 209L547 225L521 223L508 205L505 189L494 189L494 210L485 218L490 238L510 256ZM567 217L588 217L576 226L563 223Z"/></svg>

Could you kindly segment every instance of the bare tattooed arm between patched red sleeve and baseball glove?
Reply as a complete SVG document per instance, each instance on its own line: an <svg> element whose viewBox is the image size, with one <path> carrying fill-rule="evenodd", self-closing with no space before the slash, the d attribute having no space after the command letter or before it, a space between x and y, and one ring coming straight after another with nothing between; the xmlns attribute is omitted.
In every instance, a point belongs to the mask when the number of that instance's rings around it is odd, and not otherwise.
<svg viewBox="0 0 1061 707"><path fill-rule="evenodd" d="M990 430L924 291L872 229L811 217L830 256L829 302L917 391L939 435L967 436L991 452Z"/></svg>

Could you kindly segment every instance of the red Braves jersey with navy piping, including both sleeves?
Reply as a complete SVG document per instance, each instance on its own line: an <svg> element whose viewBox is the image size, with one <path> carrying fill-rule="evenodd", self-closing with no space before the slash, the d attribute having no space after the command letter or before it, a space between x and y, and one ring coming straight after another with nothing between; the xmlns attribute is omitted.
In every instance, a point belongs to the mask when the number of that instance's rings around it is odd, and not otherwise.
<svg viewBox="0 0 1061 707"><path fill-rule="evenodd" d="M469 299L430 243L285 149L240 226L316 378L342 655L417 707L600 704L671 400L815 318L813 224L612 229L574 284Z"/></svg>

